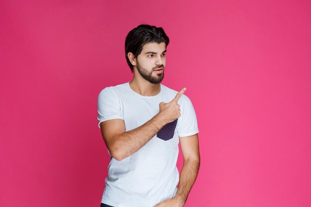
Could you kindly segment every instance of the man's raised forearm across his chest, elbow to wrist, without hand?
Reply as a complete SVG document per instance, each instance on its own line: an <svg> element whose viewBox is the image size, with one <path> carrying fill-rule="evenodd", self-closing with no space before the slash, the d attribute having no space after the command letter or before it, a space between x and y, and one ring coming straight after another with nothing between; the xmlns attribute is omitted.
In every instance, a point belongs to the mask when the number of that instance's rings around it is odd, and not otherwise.
<svg viewBox="0 0 311 207"><path fill-rule="evenodd" d="M122 160L143 147L156 133L167 124L161 114L157 114L144 125L124 132L113 138L115 154L118 160Z"/></svg>

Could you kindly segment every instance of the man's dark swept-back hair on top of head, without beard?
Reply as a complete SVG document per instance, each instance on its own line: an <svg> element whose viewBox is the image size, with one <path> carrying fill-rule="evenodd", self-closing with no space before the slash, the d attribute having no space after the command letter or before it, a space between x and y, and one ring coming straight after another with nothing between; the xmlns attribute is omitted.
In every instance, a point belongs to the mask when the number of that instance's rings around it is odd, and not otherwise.
<svg viewBox="0 0 311 207"><path fill-rule="evenodd" d="M127 54L133 53L134 57L137 58L143 50L143 46L146 43L165 43L165 48L169 43L169 38L166 36L162 27L151 26L148 24L141 24L136 28L132 29L125 38L125 57L127 64L134 72L134 67L131 64Z"/></svg>

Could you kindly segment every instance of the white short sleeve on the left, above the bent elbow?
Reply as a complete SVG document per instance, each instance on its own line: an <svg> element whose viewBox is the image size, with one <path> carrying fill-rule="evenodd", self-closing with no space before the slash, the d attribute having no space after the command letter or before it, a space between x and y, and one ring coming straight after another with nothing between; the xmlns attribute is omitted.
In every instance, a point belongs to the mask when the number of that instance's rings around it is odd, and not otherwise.
<svg viewBox="0 0 311 207"><path fill-rule="evenodd" d="M123 119L120 113L120 100L117 92L112 87L100 91L97 99L97 120L100 123L111 119Z"/></svg>

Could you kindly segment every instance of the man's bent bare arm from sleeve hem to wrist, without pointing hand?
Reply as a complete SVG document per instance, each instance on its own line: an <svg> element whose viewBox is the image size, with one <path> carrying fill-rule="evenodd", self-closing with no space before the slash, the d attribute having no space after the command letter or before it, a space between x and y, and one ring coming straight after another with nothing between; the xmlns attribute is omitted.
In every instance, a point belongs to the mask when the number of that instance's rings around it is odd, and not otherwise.
<svg viewBox="0 0 311 207"><path fill-rule="evenodd" d="M165 119L157 114L144 125L128 132L125 132L121 119L104 121L100 123L100 129L111 156L120 161L143 147L165 124Z"/></svg>

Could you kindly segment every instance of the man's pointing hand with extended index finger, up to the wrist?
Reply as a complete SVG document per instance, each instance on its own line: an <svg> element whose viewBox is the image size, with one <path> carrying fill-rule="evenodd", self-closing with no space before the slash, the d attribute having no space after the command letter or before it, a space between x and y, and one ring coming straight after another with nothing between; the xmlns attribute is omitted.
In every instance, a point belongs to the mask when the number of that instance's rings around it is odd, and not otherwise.
<svg viewBox="0 0 311 207"><path fill-rule="evenodd" d="M177 101L185 91L186 88L181 89L181 91L176 94L175 98L168 103L159 103L159 115L161 115L167 123L170 123L181 116L179 109L180 106L177 104Z"/></svg>

